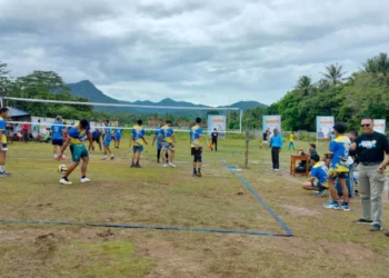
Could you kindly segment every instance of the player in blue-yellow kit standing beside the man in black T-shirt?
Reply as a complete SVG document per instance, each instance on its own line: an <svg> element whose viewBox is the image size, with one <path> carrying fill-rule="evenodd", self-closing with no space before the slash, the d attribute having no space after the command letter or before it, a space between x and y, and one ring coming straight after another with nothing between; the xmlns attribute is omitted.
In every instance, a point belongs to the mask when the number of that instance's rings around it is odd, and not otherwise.
<svg viewBox="0 0 389 278"><path fill-rule="evenodd" d="M332 201L330 201L328 205L325 205L325 208L349 211L349 190L347 188L346 181L349 172L348 158L351 141L348 137L345 136L346 128L347 127L343 122L339 122L333 127L336 138L330 142L329 155L331 157L331 165L328 172ZM339 196L335 187L337 179L339 179L339 183L343 192L343 202L341 205L338 203Z"/></svg>

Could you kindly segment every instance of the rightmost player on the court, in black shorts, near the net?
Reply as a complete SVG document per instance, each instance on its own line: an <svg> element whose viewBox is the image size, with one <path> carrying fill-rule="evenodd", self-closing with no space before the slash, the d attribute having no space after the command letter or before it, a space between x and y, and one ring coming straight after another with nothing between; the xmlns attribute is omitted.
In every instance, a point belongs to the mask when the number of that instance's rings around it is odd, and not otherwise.
<svg viewBox="0 0 389 278"><path fill-rule="evenodd" d="M189 131L190 135L190 149L193 157L193 177L202 177L201 163L202 163L202 128L200 126L201 118L196 118L196 125Z"/></svg>

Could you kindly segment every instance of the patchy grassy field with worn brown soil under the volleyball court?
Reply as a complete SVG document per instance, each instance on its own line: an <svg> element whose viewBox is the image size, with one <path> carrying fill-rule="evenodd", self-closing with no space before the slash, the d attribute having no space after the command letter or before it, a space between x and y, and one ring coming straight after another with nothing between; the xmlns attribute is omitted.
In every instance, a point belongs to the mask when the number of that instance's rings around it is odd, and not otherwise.
<svg viewBox="0 0 389 278"><path fill-rule="evenodd" d="M50 145L10 145L7 168L13 175L0 180L0 218L286 234L220 160L240 167L243 140L221 141L217 153L205 150L203 178L191 177L188 140L179 140L176 169L157 165L151 146L143 168L130 168L127 143L113 161L92 152L92 182L81 185L77 170L72 186L58 183ZM270 151L251 141L250 168L237 173L293 237L0 224L0 277L389 277L389 238L352 224L359 198L349 212L325 210L328 196L303 191L305 178L289 176L291 153L281 152L283 171L275 173ZM386 225L387 202L385 210Z"/></svg>

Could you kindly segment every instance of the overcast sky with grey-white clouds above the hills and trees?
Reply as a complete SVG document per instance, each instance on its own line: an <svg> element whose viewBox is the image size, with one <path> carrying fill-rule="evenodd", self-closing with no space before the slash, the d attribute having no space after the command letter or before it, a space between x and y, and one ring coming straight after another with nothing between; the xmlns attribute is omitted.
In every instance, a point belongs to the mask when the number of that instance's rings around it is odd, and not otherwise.
<svg viewBox="0 0 389 278"><path fill-rule="evenodd" d="M0 61L108 96L279 100L299 76L389 52L388 0L0 0Z"/></svg>

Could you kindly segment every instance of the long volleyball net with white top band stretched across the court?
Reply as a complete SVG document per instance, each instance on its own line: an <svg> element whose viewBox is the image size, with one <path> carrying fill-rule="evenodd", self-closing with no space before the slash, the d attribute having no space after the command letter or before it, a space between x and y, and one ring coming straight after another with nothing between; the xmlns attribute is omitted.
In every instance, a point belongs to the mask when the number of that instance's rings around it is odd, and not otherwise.
<svg viewBox="0 0 389 278"><path fill-rule="evenodd" d="M108 119L111 127L120 126L122 130L130 130L140 119L144 130L154 131L166 120L171 120L174 131L188 132L194 125L194 119L201 118L205 132L210 133L215 129L225 135L242 132L242 110L236 107L101 103L16 97L0 97L0 105L10 108L11 120L8 122L16 126L27 123L50 128L56 122L57 116L61 116L66 127L72 127L79 120L88 119L92 129L104 128L103 121ZM34 109L28 109L31 107ZM72 108L73 111L82 111L82 117L72 117L66 111L66 107ZM28 113L21 115L23 110Z"/></svg>

